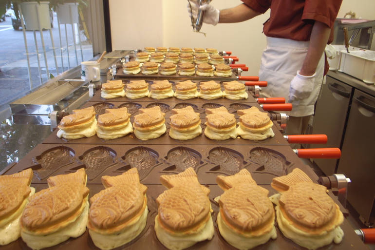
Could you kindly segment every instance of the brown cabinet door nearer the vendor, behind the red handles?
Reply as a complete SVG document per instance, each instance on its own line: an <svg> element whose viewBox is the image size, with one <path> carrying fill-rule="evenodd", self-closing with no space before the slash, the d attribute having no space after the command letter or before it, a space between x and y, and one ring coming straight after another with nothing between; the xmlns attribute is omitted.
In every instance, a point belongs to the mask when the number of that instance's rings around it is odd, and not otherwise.
<svg viewBox="0 0 375 250"><path fill-rule="evenodd" d="M325 134L325 145L311 145L311 148L339 148L348 114L353 88L335 78L326 78L322 86L313 121L313 134ZM335 173L336 159L314 159L314 162L326 174Z"/></svg>

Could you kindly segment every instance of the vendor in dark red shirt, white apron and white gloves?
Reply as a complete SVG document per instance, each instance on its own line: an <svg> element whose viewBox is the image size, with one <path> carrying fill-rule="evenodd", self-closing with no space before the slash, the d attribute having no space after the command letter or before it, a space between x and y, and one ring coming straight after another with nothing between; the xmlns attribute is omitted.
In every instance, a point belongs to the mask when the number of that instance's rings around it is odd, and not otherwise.
<svg viewBox="0 0 375 250"><path fill-rule="evenodd" d="M342 0L242 0L236 7L218 10L211 4L199 6L189 0L193 17L205 11L203 22L242 22L271 9L263 24L267 46L263 51L259 79L267 81L262 97L284 97L293 104L288 113L288 135L302 134L307 128L318 98L323 76L328 71L324 55L333 40L334 21ZM190 10L191 6L191 10Z"/></svg>

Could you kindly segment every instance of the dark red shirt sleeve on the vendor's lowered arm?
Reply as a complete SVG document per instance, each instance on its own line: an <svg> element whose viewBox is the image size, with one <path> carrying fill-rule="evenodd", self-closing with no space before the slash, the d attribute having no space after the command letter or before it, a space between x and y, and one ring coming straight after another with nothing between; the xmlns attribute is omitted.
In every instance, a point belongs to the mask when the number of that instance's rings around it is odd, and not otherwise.
<svg viewBox="0 0 375 250"><path fill-rule="evenodd" d="M306 0L302 21L315 20L332 28L342 0Z"/></svg>

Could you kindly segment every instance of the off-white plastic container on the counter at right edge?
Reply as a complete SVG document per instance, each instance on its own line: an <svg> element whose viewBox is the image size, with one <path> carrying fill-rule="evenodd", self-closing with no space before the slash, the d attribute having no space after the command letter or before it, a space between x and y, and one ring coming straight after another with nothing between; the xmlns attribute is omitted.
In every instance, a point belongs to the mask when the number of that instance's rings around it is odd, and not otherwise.
<svg viewBox="0 0 375 250"><path fill-rule="evenodd" d="M357 50L348 53L341 50L340 53L339 71L359 78L365 83L375 83L375 51Z"/></svg>

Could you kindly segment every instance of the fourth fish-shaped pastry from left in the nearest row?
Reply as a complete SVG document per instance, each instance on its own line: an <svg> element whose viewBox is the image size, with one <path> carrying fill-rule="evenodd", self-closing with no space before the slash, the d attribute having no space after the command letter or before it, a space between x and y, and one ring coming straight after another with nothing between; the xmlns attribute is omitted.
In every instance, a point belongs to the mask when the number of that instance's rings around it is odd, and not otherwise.
<svg viewBox="0 0 375 250"><path fill-rule="evenodd" d="M209 189L200 185L192 168L176 175L161 175L168 188L156 199L155 233L169 250L182 250L211 240L214 234L208 199Z"/></svg>

